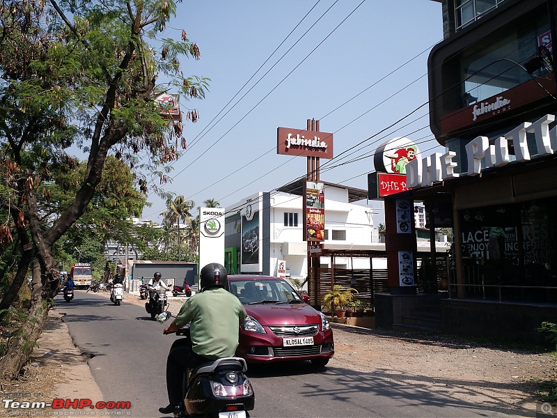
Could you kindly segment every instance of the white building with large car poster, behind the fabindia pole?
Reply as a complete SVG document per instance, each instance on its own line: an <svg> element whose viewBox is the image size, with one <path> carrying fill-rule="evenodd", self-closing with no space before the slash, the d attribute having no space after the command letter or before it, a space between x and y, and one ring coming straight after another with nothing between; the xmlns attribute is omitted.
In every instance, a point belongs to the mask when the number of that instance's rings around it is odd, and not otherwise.
<svg viewBox="0 0 557 418"><path fill-rule="evenodd" d="M324 247L327 249L379 249L371 208L354 204L368 192L334 183L324 183ZM260 192L226 208L225 267L233 274L278 274L285 261L286 275L307 275L307 242L303 239L303 182L285 185L278 192ZM375 240L374 240L375 235ZM254 238L256 237L256 238ZM256 244L254 241L256 240ZM375 242L374 242L375 241ZM322 257L322 267L331 267ZM383 263L374 268L385 268ZM366 258L336 258L338 268L369 268Z"/></svg>

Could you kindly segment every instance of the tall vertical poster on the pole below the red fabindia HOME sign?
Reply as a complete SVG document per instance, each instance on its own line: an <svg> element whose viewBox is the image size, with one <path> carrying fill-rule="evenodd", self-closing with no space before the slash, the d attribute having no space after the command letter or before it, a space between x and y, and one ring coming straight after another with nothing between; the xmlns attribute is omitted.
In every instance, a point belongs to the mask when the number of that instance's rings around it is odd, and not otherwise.
<svg viewBox="0 0 557 418"><path fill-rule="evenodd" d="M323 241L325 235L324 183L304 183L304 241Z"/></svg>

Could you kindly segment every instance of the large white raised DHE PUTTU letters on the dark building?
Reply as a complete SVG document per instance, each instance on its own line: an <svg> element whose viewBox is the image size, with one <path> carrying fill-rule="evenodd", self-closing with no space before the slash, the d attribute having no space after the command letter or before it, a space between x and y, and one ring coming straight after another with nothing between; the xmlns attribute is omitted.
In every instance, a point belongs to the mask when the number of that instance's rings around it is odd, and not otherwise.
<svg viewBox="0 0 557 418"><path fill-rule="evenodd" d="M454 151L434 153L421 160L411 160L406 165L406 186L408 188L425 187L460 175L478 176L482 169L503 167L509 164L509 142L515 149L516 161L531 160L526 133L533 133L537 153L534 157L553 155L557 152L557 127L549 130L549 124L555 121L555 115L547 114L534 123L524 122L515 127L504 137L499 137L489 145L487 137L476 137L466 144L467 173L455 173L457 163L453 161ZM482 160L485 163L482 166Z"/></svg>

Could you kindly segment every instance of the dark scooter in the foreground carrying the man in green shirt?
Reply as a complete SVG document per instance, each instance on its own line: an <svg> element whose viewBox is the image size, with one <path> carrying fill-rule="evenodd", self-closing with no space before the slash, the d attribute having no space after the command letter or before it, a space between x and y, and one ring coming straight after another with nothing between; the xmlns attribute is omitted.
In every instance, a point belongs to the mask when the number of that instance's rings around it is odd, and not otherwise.
<svg viewBox="0 0 557 418"><path fill-rule="evenodd" d="M164 323L171 316L170 312L163 312L157 316L157 322ZM176 335L189 339L189 326L180 328ZM224 357L188 369L186 412L190 417L249 418L248 411L253 410L256 396L246 371L246 360L242 357ZM175 418L183 416L174 413Z"/></svg>

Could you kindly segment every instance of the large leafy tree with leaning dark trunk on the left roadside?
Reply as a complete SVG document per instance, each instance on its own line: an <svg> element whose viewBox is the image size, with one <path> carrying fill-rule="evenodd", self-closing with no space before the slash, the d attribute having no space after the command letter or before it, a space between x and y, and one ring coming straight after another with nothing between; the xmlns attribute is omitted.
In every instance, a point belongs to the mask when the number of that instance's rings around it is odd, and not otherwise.
<svg viewBox="0 0 557 418"><path fill-rule="evenodd" d="M40 334L59 283L54 245L92 203L109 155L135 170L141 192L157 192L151 176L164 184L185 148L182 123L161 116L155 98L171 89L203 98L208 80L180 70L180 58L200 57L185 31L178 41L157 38L175 11L173 0L0 6L0 245L17 237L16 284L33 265L29 320L0 359L6 376L17 375ZM57 167L75 167L71 146L86 167L71 198L53 207L47 186Z"/></svg>

